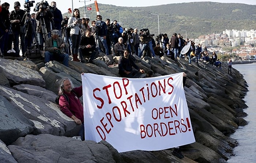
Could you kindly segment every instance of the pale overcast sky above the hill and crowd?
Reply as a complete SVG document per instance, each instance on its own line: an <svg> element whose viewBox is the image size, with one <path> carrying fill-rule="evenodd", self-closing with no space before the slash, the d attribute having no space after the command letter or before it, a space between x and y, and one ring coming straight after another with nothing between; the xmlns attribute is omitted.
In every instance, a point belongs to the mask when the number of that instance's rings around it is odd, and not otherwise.
<svg viewBox="0 0 256 163"><path fill-rule="evenodd" d="M9 11L11 12L14 10L14 2L16 0L1 0L1 4L4 2L7 2L10 4ZM31 1L31 0L30 0ZM84 6L84 0L48 0L48 3L50 4L52 1L55 1L57 4L57 8L62 12L68 12L68 8L72 8L72 1L73 1L73 8L79 8ZM79 2L80 1L80 2ZM85 0L86 7L90 5L94 5L94 0ZM201 1L212 1L212 2L219 2L223 3L224 0L97 0L97 3L101 4L111 4L116 6L124 6L124 7L145 7L145 6L153 6L153 5L162 5L162 4L170 4L170 3L187 3L187 2L201 2ZM24 10L23 4L24 1L19 1L21 4L21 9ZM41 2L41 0L35 0L35 4ZM244 3L244 4L250 4L250 5L256 5L256 0L225 0L225 3ZM34 4L34 6L35 6ZM34 7L31 7L31 12L33 13ZM101 9L99 8L99 12ZM94 11L92 11L94 12ZM96 14L96 11L95 11Z"/></svg>

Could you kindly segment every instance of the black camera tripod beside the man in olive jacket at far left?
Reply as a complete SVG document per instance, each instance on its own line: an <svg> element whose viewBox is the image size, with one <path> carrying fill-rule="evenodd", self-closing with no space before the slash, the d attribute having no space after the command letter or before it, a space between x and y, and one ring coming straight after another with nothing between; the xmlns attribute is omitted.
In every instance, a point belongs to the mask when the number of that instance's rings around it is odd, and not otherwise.
<svg viewBox="0 0 256 163"><path fill-rule="evenodd" d="M27 9L27 10L26 10ZM21 39L21 41L20 42L22 42L23 41L23 39L25 39L26 37L29 37L29 35L31 34L31 41L33 42L33 37L32 37L32 35L34 34L34 36L35 36L35 41L36 41L36 43L37 43L37 46L39 46L39 43L38 43L38 39L37 39L37 37L36 37L36 33L35 33L35 26L33 26L33 24L32 24L32 22L31 22L31 15L30 15L30 8L26 8L25 10L26 10L26 12L25 12L25 14L24 14L24 16L23 16L23 18L22 18L22 22L23 22L23 20L24 20L24 26L23 26L23 35L22 35L22 39ZM31 31L29 31L29 29L30 29L30 27L31 27ZM26 33L25 33L25 30L26 30ZM20 45L20 48L21 48L21 45ZM20 48L19 48L19 51L20 51ZM26 47L27 48L27 47ZM23 54L24 55L24 54ZM22 57L25 57L25 56L23 56L22 55Z"/></svg>

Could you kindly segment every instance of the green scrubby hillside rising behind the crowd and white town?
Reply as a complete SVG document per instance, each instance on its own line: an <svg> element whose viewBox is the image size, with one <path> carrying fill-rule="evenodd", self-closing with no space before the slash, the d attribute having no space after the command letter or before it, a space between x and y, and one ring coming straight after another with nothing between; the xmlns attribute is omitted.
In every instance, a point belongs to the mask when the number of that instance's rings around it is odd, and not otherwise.
<svg viewBox="0 0 256 163"><path fill-rule="evenodd" d="M91 20L95 19L95 5L91 4L92 13L86 13ZM102 20L110 18L121 20L125 28L148 28L151 34L158 34L159 15L160 33L181 33L188 38L203 34L221 33L225 29L251 30L256 26L256 6L238 3L191 2L158 5L150 7L120 7L98 4ZM79 8L84 15L84 6ZM68 16L67 13L63 14ZM120 17L119 17L120 15ZM180 30L182 29L182 30Z"/></svg>

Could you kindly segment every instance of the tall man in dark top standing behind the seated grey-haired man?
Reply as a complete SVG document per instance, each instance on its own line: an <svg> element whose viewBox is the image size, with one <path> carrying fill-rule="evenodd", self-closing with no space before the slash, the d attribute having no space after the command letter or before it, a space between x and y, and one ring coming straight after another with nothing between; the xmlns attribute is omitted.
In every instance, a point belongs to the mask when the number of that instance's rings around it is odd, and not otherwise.
<svg viewBox="0 0 256 163"><path fill-rule="evenodd" d="M62 14L61 11L56 7L56 2L52 1L51 6L53 8L53 21L54 27L56 30L59 30L61 36L61 22L62 22Z"/></svg>

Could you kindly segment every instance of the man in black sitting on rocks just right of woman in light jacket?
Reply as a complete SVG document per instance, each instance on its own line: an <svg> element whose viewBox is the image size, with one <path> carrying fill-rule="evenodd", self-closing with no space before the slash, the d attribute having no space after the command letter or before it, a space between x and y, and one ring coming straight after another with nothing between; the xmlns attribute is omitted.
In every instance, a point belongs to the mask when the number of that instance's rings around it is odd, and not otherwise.
<svg viewBox="0 0 256 163"><path fill-rule="evenodd" d="M81 62L85 62L83 59L83 56L85 56L86 58L89 58L87 63L93 63L97 51L96 42L93 35L91 35L91 31L86 30L81 37L78 50Z"/></svg>

